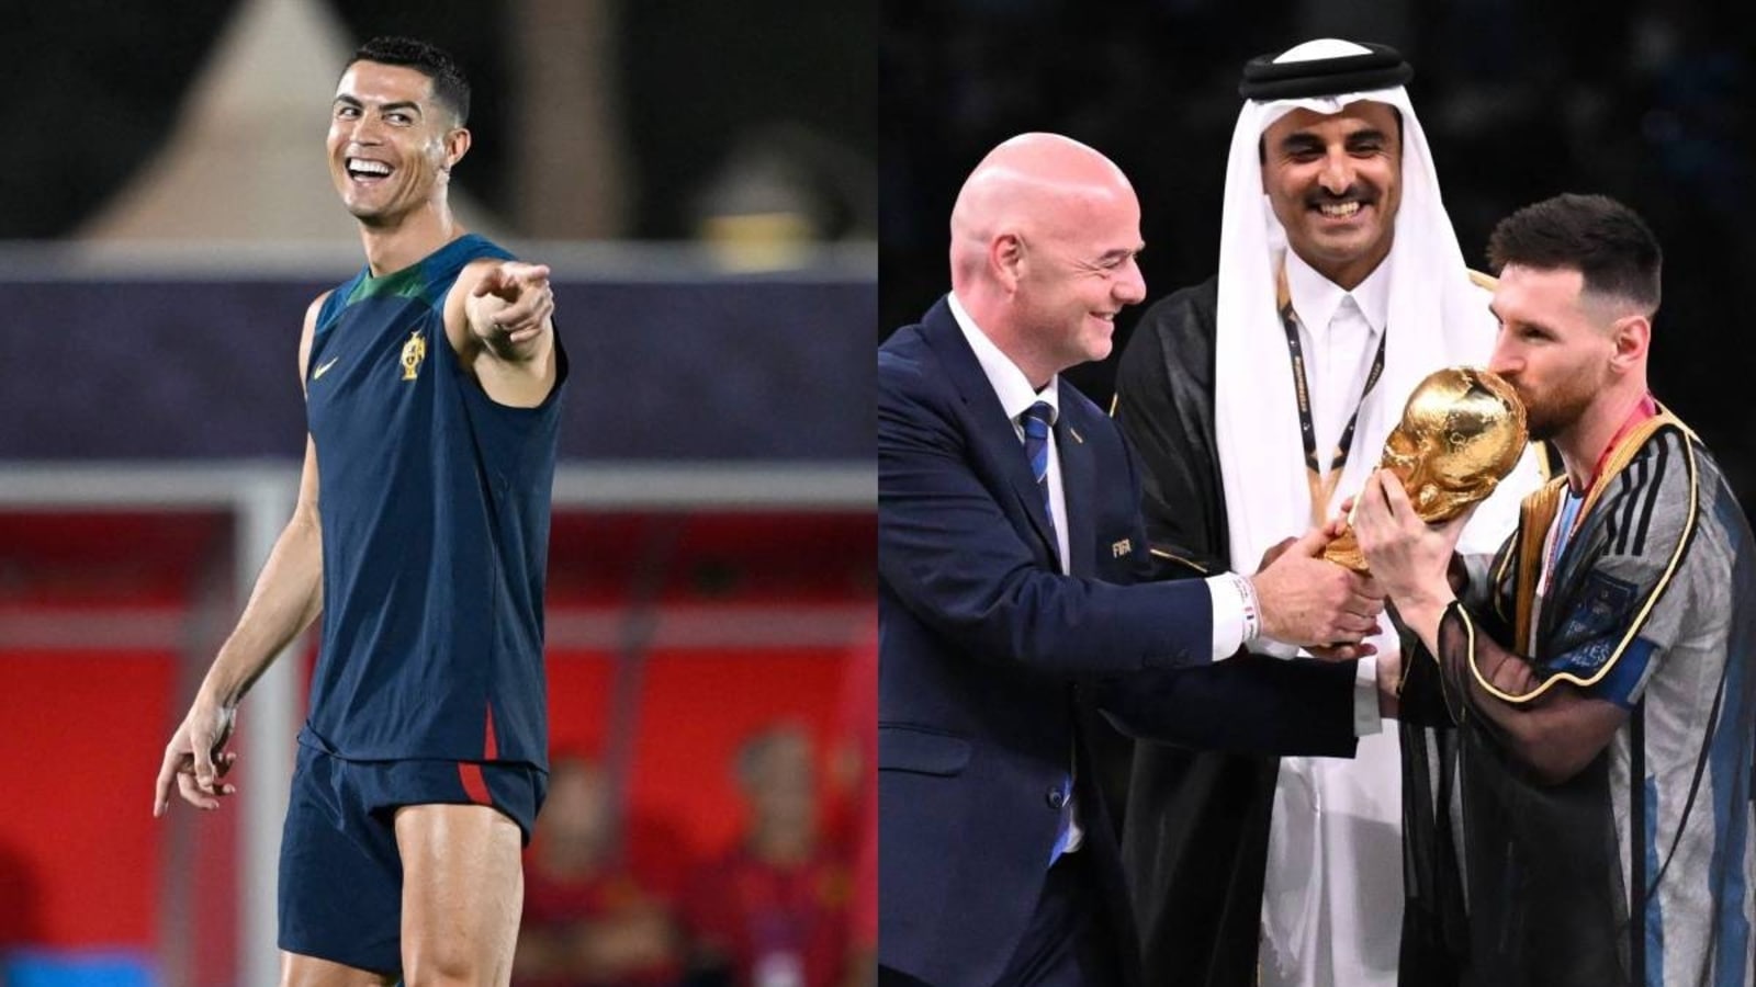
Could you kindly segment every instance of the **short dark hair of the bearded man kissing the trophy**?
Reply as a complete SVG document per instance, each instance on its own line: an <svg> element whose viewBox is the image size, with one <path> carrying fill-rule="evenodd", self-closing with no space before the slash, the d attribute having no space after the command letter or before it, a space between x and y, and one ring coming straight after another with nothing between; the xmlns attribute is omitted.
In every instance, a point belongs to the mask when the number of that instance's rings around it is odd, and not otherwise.
<svg viewBox="0 0 1756 987"><path fill-rule="evenodd" d="M1501 220L1487 237L1494 274L1510 265L1579 270L1584 290L1658 311L1665 255L1638 213L1607 195L1556 195Z"/></svg>

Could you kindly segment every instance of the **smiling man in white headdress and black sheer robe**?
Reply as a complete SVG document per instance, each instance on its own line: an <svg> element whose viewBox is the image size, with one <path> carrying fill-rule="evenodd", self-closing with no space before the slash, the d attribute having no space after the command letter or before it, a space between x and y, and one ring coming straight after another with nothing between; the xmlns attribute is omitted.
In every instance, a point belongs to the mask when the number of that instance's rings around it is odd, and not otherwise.
<svg viewBox="0 0 1756 987"><path fill-rule="evenodd" d="M1491 279L1468 270L1385 46L1321 39L1245 65L1217 277L1148 309L1115 414L1145 464L1164 578L1249 569L1359 492L1428 372L1486 365ZM1459 551L1491 553L1540 479L1528 455ZM1250 650L1292 657L1257 639ZM1398 650L1387 618L1364 650ZM1401 734L1401 736L1400 736ZM1138 745L1124 855L1148 983L1391 985L1443 955L1461 899L1403 813L1445 804L1421 731L1354 760ZM1403 752L1410 757L1405 757ZM1422 980L1428 982L1428 980Z"/></svg>

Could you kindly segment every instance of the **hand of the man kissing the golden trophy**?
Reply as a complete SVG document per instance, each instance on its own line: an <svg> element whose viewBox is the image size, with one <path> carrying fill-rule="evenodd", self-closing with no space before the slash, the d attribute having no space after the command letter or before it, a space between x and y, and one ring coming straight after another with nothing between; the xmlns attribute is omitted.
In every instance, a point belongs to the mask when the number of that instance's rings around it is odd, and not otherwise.
<svg viewBox="0 0 1756 987"><path fill-rule="evenodd" d="M1410 602L1443 604L1452 599L1450 557L1473 513L1472 506L1442 525L1428 525L1394 472L1380 469L1366 478L1359 509L1354 511L1354 537L1398 609Z"/></svg>

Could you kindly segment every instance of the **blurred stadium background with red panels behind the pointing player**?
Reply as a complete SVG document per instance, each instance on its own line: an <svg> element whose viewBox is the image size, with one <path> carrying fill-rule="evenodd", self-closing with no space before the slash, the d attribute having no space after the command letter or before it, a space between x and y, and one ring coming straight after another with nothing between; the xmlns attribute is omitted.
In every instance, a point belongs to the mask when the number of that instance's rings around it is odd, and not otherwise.
<svg viewBox="0 0 1756 987"><path fill-rule="evenodd" d="M801 724L825 760L846 741L873 620L874 14L7 5L0 982L274 982L314 643L242 706L225 811L155 822L148 792L291 506L299 318L362 262L325 119L376 33L464 63L458 214L555 269L553 743L606 767L623 852L678 868L736 839L729 764L759 729Z"/></svg>

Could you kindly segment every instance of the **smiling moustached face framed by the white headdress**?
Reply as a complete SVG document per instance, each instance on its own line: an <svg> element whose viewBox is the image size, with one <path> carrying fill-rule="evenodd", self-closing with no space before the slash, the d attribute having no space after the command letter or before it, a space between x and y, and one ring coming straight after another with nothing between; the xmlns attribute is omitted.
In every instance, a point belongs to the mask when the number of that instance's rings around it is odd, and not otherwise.
<svg viewBox="0 0 1756 987"><path fill-rule="evenodd" d="M1343 288L1391 253L1401 170L1401 130L1385 104L1294 109L1263 133L1263 191L1287 246Z"/></svg>

